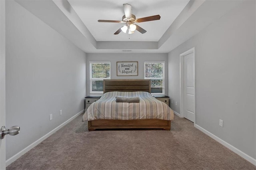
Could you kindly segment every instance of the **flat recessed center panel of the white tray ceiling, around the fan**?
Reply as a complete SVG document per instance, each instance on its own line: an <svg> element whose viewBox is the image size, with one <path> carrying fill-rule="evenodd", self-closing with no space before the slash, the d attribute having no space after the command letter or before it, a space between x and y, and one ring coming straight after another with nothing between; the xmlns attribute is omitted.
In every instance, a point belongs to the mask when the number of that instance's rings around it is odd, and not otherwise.
<svg viewBox="0 0 256 170"><path fill-rule="evenodd" d="M153 41L158 42L189 0L68 0L96 41ZM138 23L147 32L121 32L114 35L124 24L102 23L98 20L122 20L123 4L132 5L136 18L160 15L160 20Z"/></svg>

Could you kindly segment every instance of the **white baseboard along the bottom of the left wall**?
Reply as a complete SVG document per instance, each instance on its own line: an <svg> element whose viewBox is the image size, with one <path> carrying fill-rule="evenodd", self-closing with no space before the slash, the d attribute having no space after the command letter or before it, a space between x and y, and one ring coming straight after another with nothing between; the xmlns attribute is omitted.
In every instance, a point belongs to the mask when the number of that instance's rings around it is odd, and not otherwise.
<svg viewBox="0 0 256 170"><path fill-rule="evenodd" d="M32 144L30 144L29 146L27 146L26 148L24 148L23 150L21 150L20 152L18 152L17 154L15 154L14 156L12 156L11 158L9 158L8 160L6 160L6 166L10 165L12 162L14 162L15 160L17 160L18 158L20 158L20 156L24 155L26 152L28 152L30 149L34 148L36 145L40 144L43 140L45 140L46 138L48 138L49 136L51 136L52 134L54 134L57 130L59 130L60 128L64 127L66 124L68 124L70 121L72 121L73 119L75 119L76 117L78 117L81 113L84 112L84 109L82 111L80 111L79 113L77 113L76 115L74 115L73 117L71 117L70 119L68 119L66 122L62 123L60 126L54 128L52 131L50 131L49 133L47 133L46 135L42 136L41 138L39 138L38 140L36 140L35 142L33 142Z"/></svg>

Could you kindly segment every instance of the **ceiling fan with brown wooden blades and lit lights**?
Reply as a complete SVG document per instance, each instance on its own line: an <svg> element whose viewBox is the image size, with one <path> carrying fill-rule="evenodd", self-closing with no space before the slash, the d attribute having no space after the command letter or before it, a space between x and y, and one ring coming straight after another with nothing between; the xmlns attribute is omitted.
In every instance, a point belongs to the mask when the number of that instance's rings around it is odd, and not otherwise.
<svg viewBox="0 0 256 170"><path fill-rule="evenodd" d="M132 14L132 6L130 4L123 4L123 6L124 6L124 16L122 17L122 21L98 20L98 22L116 22L116 23L126 24L125 26L122 26L121 28L119 28L114 33L115 35L119 34L121 31L126 33L127 30L128 30L128 34L133 34L135 30L137 30L141 34L144 34L147 31L134 23L160 20L160 15L154 15L154 16L148 16L148 17L136 19L136 16Z"/></svg>

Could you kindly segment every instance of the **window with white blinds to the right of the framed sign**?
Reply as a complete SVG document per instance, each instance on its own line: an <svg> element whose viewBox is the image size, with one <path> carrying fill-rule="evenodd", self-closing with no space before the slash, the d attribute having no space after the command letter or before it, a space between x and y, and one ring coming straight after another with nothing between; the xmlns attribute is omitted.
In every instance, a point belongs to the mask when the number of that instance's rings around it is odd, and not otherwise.
<svg viewBox="0 0 256 170"><path fill-rule="evenodd" d="M164 61L145 61L144 79L151 79L151 93L164 94Z"/></svg>

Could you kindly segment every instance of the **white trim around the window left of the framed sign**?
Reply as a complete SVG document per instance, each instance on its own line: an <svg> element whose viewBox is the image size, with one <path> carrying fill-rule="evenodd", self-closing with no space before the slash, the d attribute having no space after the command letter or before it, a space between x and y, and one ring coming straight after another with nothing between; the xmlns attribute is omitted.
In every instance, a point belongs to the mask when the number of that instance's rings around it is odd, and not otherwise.
<svg viewBox="0 0 256 170"><path fill-rule="evenodd" d="M92 63L107 63L109 64L109 77L102 77L102 78L92 78ZM89 61L89 86L90 86L90 95L101 95L103 91L92 91L91 81L92 80L104 80L104 79L111 79L111 62L110 61Z"/></svg>

